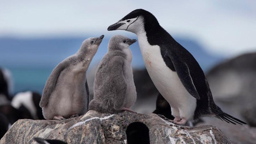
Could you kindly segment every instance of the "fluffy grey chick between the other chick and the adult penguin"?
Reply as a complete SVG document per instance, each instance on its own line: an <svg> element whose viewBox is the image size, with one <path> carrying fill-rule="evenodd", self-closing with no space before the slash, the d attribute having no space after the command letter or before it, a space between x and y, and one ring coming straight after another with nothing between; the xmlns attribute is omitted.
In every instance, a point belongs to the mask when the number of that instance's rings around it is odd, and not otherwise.
<svg viewBox="0 0 256 144"><path fill-rule="evenodd" d="M136 89L132 74L132 52L129 46L135 39L112 36L108 52L101 60L94 80L94 99L89 110L102 113L117 113L128 110L136 101ZM133 111L132 111L133 112Z"/></svg>

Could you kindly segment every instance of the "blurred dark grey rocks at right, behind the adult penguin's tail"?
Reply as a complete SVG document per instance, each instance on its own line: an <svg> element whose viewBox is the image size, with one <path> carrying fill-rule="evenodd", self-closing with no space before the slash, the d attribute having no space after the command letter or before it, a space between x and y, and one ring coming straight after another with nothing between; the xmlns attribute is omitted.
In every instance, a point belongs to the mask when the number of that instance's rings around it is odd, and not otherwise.
<svg viewBox="0 0 256 144"><path fill-rule="evenodd" d="M247 53L220 63L207 74L215 103L226 113L253 125L256 104L256 53ZM249 110L249 111L248 111ZM254 120L255 121L255 120ZM233 125L216 118L204 118L204 123L220 127L235 144L254 144L256 128Z"/></svg>

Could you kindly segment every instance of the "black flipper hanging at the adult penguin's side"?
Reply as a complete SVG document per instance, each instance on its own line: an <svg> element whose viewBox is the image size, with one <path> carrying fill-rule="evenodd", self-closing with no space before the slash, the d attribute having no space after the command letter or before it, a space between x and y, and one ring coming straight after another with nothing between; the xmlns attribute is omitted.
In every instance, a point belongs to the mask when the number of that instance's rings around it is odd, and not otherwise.
<svg viewBox="0 0 256 144"><path fill-rule="evenodd" d="M200 96L196 90L196 86L193 83L193 79L190 76L189 68L186 62L178 59L172 59L173 66L182 82L183 86L186 88L189 94L191 94L197 100L200 100Z"/></svg>

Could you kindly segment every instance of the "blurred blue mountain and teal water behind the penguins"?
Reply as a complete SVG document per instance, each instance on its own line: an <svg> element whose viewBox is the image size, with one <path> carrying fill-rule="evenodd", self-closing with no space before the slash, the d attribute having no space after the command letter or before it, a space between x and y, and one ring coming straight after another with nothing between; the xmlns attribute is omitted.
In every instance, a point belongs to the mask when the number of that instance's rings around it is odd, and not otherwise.
<svg viewBox="0 0 256 144"><path fill-rule="evenodd" d="M137 39L137 37L131 37ZM11 70L14 80L14 92L32 90L42 92L52 69L68 56L76 53L86 37L70 38L0 38L0 66ZM94 56L89 70L97 65L107 52L110 37L105 36L98 52ZM204 70L212 67L221 56L205 51L195 40L177 37L181 45L191 52ZM144 68L138 42L131 45L132 67Z"/></svg>

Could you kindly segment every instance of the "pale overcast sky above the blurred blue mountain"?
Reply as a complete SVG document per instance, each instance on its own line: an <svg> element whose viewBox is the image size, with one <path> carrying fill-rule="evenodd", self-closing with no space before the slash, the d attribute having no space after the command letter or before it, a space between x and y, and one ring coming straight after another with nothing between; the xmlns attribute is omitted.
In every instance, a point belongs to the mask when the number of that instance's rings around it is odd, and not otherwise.
<svg viewBox="0 0 256 144"><path fill-rule="evenodd" d="M171 35L198 40L209 52L256 51L256 1L0 0L0 37L97 36L132 10L153 13Z"/></svg>

